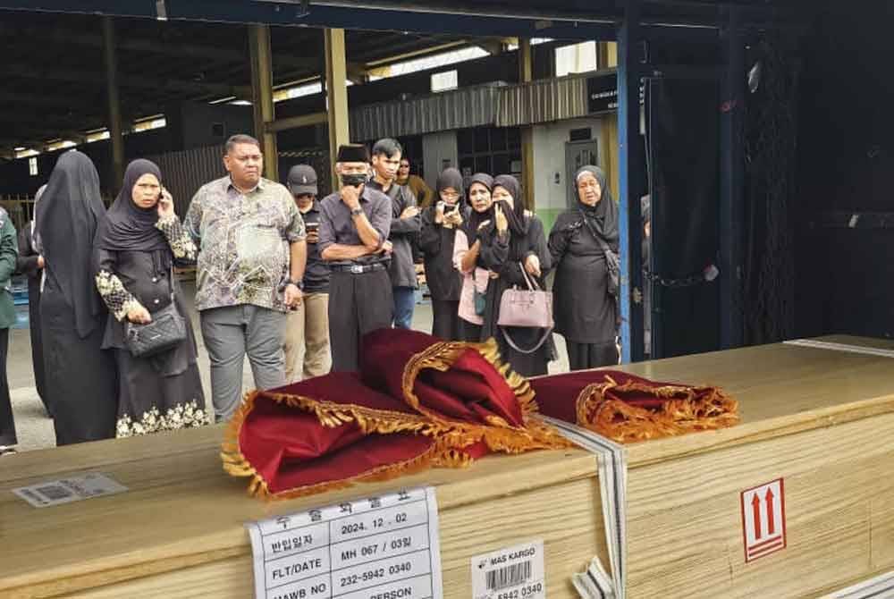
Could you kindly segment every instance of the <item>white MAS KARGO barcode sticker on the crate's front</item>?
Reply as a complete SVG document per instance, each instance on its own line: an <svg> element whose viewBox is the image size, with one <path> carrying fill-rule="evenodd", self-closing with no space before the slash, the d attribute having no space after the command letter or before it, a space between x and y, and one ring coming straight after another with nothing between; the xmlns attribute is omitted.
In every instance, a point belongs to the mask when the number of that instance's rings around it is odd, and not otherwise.
<svg viewBox="0 0 894 599"><path fill-rule="evenodd" d="M472 558L473 599L545 599L543 540Z"/></svg>

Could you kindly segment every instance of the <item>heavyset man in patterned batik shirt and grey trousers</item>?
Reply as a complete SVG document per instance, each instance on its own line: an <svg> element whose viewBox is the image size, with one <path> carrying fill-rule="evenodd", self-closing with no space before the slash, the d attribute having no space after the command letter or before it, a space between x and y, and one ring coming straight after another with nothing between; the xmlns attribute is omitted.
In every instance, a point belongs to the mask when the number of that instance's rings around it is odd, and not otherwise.
<svg viewBox="0 0 894 599"><path fill-rule="evenodd" d="M261 177L263 164L257 139L232 136L229 174L202 186L186 215L199 246L196 307L218 422L239 406L246 354L258 389L285 384L286 312L301 301L304 221L289 190Z"/></svg>

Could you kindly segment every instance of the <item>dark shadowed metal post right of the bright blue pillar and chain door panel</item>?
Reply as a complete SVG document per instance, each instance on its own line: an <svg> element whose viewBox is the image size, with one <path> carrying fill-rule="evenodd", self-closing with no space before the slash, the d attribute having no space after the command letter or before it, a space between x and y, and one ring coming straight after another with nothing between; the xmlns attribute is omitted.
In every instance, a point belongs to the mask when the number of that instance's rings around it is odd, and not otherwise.
<svg viewBox="0 0 894 599"><path fill-rule="evenodd" d="M725 30L727 71L721 101L721 349L744 341L742 313L742 233L744 222L744 156L742 115L745 112L745 51L739 30L739 8L730 5Z"/></svg>

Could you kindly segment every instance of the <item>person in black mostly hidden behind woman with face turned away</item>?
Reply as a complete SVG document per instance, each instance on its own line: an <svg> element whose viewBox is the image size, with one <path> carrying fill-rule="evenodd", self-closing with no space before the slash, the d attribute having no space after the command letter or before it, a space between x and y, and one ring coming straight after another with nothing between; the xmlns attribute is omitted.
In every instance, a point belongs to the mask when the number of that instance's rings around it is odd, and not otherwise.
<svg viewBox="0 0 894 599"><path fill-rule="evenodd" d="M37 207L44 195L46 185L42 185L34 194L34 205ZM53 410L46 401L46 375L44 373L44 350L40 339L40 288L44 278L44 257L41 254L38 237L35 235L34 219L22 227L19 232L19 257L15 270L28 277L28 321L31 333L31 365L34 367L34 386L38 397L44 404L47 415Z"/></svg>

